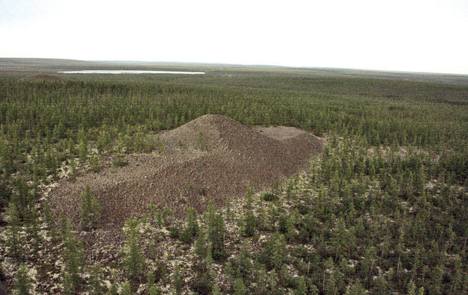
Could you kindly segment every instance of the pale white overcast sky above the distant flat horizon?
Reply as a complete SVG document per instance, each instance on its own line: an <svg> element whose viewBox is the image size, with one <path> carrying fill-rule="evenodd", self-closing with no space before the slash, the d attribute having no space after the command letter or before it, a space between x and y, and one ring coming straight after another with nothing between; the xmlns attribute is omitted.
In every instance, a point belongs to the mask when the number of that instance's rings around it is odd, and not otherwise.
<svg viewBox="0 0 468 295"><path fill-rule="evenodd" d="M0 57L468 74L468 0L0 0Z"/></svg>

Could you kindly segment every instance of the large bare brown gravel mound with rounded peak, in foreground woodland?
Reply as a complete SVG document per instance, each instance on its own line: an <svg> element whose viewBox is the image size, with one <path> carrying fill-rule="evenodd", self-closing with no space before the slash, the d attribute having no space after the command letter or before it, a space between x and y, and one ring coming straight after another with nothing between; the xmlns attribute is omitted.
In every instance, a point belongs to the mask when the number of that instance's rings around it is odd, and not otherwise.
<svg viewBox="0 0 468 295"><path fill-rule="evenodd" d="M89 184L104 224L120 226L150 203L180 216L185 206L201 211L209 200L222 205L228 196L243 196L249 183L258 190L290 177L322 148L299 129L252 129L221 115L201 116L155 140L163 151L128 156L127 166L85 173L75 183L61 180L49 195L52 206L78 223L79 195Z"/></svg>

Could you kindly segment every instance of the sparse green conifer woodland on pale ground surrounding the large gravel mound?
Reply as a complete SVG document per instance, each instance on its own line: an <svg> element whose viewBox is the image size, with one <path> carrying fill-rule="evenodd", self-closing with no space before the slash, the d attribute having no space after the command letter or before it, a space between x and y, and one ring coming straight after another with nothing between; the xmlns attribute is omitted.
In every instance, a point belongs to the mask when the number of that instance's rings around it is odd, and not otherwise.
<svg viewBox="0 0 468 295"><path fill-rule="evenodd" d="M0 79L0 281L14 294L468 294L468 87L302 77L196 85ZM313 87L312 87L312 86ZM343 85L341 89L335 85ZM204 114L325 139L291 179L89 248L47 192ZM189 184L187 184L189 185Z"/></svg>

